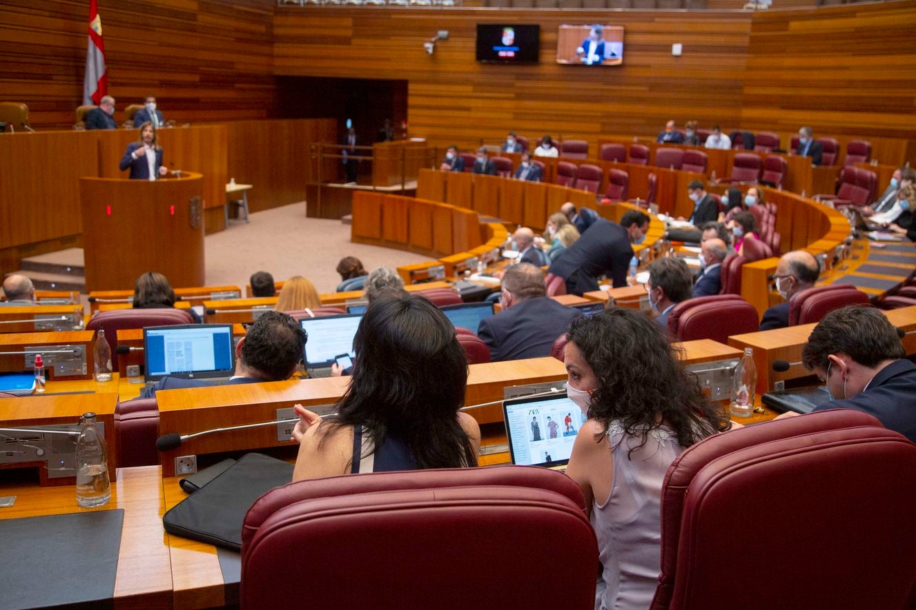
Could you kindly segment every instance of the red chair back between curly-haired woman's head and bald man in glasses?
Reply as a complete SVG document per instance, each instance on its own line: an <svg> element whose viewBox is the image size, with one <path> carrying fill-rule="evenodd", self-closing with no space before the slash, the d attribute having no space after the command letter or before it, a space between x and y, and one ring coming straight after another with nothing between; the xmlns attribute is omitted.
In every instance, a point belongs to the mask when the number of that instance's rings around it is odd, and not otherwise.
<svg viewBox="0 0 916 610"><path fill-rule="evenodd" d="M668 315L668 329L680 341L713 339L727 345L728 337L754 333L759 327L757 309L735 294L687 299Z"/></svg>

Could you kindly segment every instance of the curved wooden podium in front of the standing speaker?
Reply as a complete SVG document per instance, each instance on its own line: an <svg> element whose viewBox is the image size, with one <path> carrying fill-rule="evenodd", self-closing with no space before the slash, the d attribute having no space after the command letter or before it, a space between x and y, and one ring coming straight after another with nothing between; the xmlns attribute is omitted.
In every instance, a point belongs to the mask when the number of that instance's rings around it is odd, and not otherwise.
<svg viewBox="0 0 916 610"><path fill-rule="evenodd" d="M130 288L158 272L173 286L204 284L203 177L80 178L86 288Z"/></svg>

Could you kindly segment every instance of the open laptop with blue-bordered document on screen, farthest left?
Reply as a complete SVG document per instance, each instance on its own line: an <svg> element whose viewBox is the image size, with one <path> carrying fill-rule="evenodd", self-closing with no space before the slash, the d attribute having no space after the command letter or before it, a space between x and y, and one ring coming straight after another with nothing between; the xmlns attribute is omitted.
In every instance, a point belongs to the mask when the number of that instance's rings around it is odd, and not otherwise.
<svg viewBox="0 0 916 610"><path fill-rule="evenodd" d="M225 381L235 372L231 324L182 324L143 329L147 386L167 375Z"/></svg>

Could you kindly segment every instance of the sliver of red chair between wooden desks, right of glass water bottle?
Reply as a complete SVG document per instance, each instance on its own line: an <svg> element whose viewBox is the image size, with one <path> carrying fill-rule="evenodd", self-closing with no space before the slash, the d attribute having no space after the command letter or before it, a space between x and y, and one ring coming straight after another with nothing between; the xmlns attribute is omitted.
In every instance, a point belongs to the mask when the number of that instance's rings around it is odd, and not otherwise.
<svg viewBox="0 0 916 610"><path fill-rule="evenodd" d="M159 407L155 398L118 402L114 407L117 467L156 466L158 435Z"/></svg>

